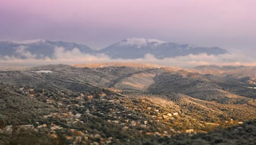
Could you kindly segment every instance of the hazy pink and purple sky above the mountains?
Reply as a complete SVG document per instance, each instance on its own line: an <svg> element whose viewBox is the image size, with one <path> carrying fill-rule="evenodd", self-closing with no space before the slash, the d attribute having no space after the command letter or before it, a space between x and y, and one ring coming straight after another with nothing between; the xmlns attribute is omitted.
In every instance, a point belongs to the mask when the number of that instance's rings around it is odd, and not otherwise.
<svg viewBox="0 0 256 145"><path fill-rule="evenodd" d="M0 39L99 49L126 38L156 38L252 54L255 6L255 0L0 0Z"/></svg>

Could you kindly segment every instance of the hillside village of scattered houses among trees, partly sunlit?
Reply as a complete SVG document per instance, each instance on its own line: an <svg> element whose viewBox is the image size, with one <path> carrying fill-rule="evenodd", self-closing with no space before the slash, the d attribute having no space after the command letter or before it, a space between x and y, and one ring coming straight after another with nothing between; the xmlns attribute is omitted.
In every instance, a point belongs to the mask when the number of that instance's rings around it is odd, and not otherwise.
<svg viewBox="0 0 256 145"><path fill-rule="evenodd" d="M44 131L50 138L62 138L68 144L119 143L130 134L138 137L170 137L178 133L207 133L194 126L206 125L214 128L220 125L202 121L201 125L186 125L184 112L173 104L169 104L167 108L161 107L160 104L154 104L151 97L127 97L107 89L70 93L22 87L17 92L45 102L56 111L41 116L32 125L17 125L15 128ZM242 122L233 121L231 118L226 123ZM0 132L11 133L12 129L9 125Z"/></svg>

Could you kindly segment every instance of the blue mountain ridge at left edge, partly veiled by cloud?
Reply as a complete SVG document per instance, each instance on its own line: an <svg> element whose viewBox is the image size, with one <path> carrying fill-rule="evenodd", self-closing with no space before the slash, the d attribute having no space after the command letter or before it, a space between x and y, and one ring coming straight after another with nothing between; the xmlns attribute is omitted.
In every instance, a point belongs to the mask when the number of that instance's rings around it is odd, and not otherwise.
<svg viewBox="0 0 256 145"><path fill-rule="evenodd" d="M15 57L19 59L55 59L55 52L58 48L64 51L78 49L84 54L92 54L93 50L88 46L64 41L32 40L23 42L0 41L0 59Z"/></svg>

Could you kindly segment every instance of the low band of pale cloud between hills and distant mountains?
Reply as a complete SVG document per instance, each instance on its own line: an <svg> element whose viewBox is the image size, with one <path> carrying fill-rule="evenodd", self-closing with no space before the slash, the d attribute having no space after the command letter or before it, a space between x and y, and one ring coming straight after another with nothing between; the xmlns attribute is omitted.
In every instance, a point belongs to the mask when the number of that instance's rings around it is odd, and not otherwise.
<svg viewBox="0 0 256 145"><path fill-rule="evenodd" d="M35 59L35 55L26 51L26 48L17 48L17 54L28 57L28 59L19 59L14 56L2 56L1 64L5 65L47 65L47 64L95 64L110 62L137 62L147 64L172 65L179 67L194 67L197 65L248 65L256 66L256 59L243 56L241 54L222 54L218 56L198 54L187 55L165 59L156 59L151 54L145 55L141 59L111 59L105 54L83 54L79 49L64 51L64 48L54 49L54 59L44 57Z"/></svg>

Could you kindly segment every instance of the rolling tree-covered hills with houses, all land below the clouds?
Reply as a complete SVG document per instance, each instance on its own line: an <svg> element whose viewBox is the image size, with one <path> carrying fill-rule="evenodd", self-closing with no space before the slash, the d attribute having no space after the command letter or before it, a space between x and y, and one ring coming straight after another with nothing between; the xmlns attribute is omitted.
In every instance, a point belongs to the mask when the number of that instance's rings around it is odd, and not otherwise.
<svg viewBox="0 0 256 145"><path fill-rule="evenodd" d="M254 74L151 64L2 70L0 144L255 144Z"/></svg>

